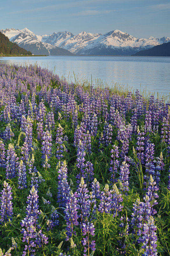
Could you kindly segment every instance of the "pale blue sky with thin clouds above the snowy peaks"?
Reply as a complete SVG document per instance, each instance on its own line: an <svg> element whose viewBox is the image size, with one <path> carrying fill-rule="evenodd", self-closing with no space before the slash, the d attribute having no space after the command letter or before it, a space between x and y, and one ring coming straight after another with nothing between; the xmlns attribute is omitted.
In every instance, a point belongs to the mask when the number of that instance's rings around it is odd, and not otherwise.
<svg viewBox="0 0 170 256"><path fill-rule="evenodd" d="M106 33L114 29L132 36L170 36L169 0L5 0L0 29L29 28L37 35L54 31Z"/></svg>

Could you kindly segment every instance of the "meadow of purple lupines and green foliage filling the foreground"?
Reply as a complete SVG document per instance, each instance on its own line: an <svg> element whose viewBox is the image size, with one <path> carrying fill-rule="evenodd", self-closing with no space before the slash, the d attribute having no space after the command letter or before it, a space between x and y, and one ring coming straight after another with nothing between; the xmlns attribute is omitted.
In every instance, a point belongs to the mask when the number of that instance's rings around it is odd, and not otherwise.
<svg viewBox="0 0 170 256"><path fill-rule="evenodd" d="M170 104L0 64L0 256L170 255Z"/></svg>

